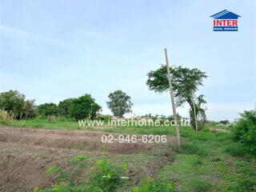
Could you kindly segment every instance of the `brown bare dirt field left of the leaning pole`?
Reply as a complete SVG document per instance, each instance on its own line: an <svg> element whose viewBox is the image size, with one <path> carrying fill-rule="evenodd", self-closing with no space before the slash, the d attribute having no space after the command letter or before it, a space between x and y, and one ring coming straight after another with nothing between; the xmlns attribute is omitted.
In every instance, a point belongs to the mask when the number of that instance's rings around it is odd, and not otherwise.
<svg viewBox="0 0 256 192"><path fill-rule="evenodd" d="M75 154L90 155L91 162L102 156L115 162L128 161L134 182L145 175L154 176L163 162L170 163L166 146L175 141L174 137L167 138L165 144L102 143L102 134L107 133L0 127L0 191L50 186L56 178L46 174L47 167L65 167Z"/></svg>

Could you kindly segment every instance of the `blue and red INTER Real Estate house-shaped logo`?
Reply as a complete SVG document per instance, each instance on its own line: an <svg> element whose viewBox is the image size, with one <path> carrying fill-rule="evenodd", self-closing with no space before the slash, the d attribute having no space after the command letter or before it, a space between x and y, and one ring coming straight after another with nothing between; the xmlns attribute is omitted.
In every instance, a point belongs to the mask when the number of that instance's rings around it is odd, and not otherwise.
<svg viewBox="0 0 256 192"><path fill-rule="evenodd" d="M241 16L229 10L222 10L210 16L214 18L214 31L238 31L239 17Z"/></svg>

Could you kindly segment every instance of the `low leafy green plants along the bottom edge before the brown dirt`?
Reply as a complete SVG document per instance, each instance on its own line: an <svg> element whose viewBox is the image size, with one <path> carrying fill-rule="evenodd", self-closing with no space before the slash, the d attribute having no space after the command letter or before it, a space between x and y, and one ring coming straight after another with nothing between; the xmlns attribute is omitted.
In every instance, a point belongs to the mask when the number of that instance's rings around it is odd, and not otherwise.
<svg viewBox="0 0 256 192"><path fill-rule="evenodd" d="M58 174L61 181L50 189L34 188L34 192L116 192L125 186L127 181L124 175L127 175L128 166L126 163L116 165L109 162L106 158L99 159L90 169L90 174L85 174L82 170L89 165L86 160L88 157L79 155L74 157L70 166L73 170L70 172L62 170L60 166L50 166L47 174ZM87 178L86 182L82 182L81 178ZM142 180L142 186L135 186L134 192L171 192L174 191L174 183L165 180L157 180L154 178L145 178Z"/></svg>

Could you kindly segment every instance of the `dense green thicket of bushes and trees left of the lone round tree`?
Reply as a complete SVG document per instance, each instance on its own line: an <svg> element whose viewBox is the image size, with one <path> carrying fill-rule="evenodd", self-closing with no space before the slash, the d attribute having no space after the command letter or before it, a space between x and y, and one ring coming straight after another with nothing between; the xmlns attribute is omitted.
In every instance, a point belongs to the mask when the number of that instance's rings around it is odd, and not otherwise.
<svg viewBox="0 0 256 192"><path fill-rule="evenodd" d="M26 99L25 95L20 94L18 90L0 93L0 109L16 119L30 119L38 116L48 118L50 122L54 122L53 119L57 116L76 120L94 119L102 110L102 106L99 106L90 94L78 98L67 98L58 105L50 102L35 106L34 102L34 99Z"/></svg>

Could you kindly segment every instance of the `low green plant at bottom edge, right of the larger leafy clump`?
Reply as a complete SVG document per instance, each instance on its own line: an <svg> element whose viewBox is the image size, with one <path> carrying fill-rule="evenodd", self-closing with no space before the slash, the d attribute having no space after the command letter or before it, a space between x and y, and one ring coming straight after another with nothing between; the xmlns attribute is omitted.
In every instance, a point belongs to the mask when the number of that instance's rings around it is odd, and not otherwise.
<svg viewBox="0 0 256 192"><path fill-rule="evenodd" d="M135 186L133 192L172 192L174 182L157 180L154 178L144 178L142 186Z"/></svg>

